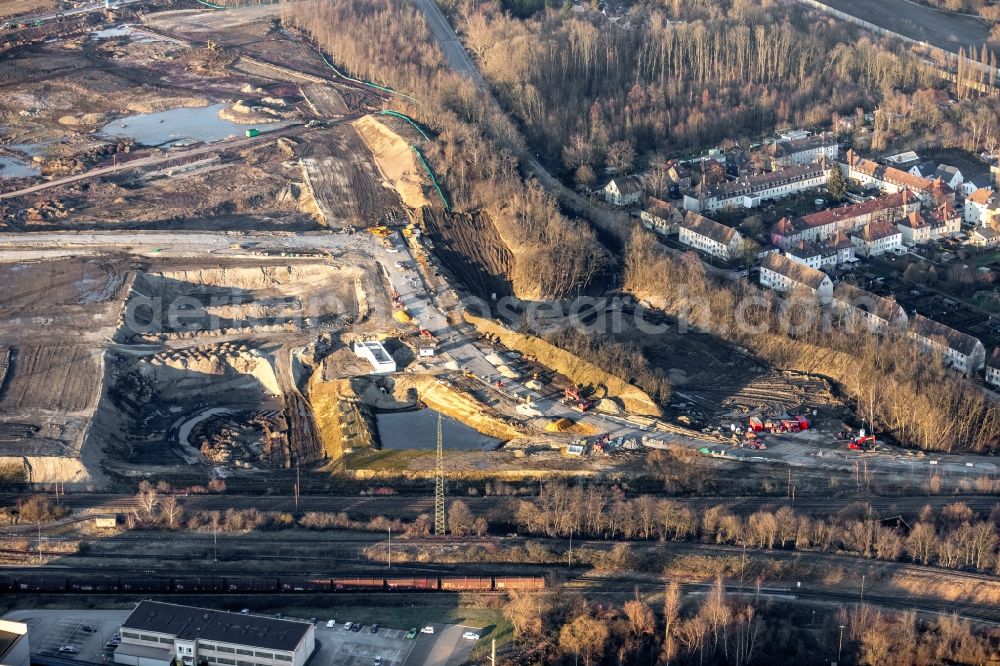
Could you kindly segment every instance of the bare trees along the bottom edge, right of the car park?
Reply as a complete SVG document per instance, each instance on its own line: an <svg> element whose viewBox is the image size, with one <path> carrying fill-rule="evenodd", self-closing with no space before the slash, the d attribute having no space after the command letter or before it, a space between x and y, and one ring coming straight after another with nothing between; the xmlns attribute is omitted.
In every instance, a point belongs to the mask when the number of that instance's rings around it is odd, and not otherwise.
<svg viewBox="0 0 1000 666"><path fill-rule="evenodd" d="M696 600L669 583L656 607L639 597L595 605L554 591L512 594L504 608L515 630L512 663L744 666L829 663L836 656L871 666L925 666L998 658L988 632L954 615L921 620L912 611L867 605L821 612L823 622L811 626L784 604L727 594L721 579Z"/></svg>

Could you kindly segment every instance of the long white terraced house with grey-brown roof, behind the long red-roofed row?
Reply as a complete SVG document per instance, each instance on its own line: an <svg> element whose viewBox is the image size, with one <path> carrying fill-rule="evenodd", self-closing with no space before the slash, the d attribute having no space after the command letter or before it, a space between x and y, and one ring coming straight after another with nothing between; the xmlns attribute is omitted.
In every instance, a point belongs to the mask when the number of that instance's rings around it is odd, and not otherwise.
<svg viewBox="0 0 1000 666"><path fill-rule="evenodd" d="M684 208L695 212L755 208L771 199L820 187L829 177L829 167L807 164L744 176L718 185L699 185L684 193Z"/></svg>

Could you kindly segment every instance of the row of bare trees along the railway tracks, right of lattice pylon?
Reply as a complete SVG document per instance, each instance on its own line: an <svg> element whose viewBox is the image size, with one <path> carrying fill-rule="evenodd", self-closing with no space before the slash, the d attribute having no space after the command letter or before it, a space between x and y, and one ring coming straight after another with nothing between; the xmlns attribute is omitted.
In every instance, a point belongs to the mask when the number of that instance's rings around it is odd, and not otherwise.
<svg viewBox="0 0 1000 666"><path fill-rule="evenodd" d="M761 549L846 552L1000 574L1000 504L976 517L963 503L939 513L926 507L912 525L886 523L866 506L812 517L784 506L742 517L722 506L699 509L650 495L635 498L597 486L549 483L537 500L520 500L523 532L568 538L657 539L747 545Z"/></svg>

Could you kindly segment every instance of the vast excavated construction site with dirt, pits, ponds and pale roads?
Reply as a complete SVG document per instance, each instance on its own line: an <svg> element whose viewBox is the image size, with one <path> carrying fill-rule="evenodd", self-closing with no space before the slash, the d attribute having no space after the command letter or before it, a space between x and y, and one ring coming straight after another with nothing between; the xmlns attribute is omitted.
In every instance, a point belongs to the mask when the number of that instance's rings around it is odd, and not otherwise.
<svg viewBox="0 0 1000 666"><path fill-rule="evenodd" d="M515 254L488 212L443 209L413 150L433 139L277 5L143 5L0 33L0 464L412 478L441 415L452 474L598 475L725 419L836 411L823 380L709 336L622 333L669 376L659 405L463 319L462 295L515 291Z"/></svg>

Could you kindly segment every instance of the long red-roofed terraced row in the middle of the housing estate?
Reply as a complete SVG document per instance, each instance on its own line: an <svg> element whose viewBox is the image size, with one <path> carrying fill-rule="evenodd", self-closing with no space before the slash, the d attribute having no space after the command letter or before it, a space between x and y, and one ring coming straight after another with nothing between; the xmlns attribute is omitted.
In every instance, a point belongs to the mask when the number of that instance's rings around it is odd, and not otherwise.
<svg viewBox="0 0 1000 666"><path fill-rule="evenodd" d="M916 210L920 210L920 200L909 190L903 190L794 220L782 218L771 227L770 240L772 244L787 249L800 240L816 241L832 238L837 233L850 234L869 222L892 222Z"/></svg>

